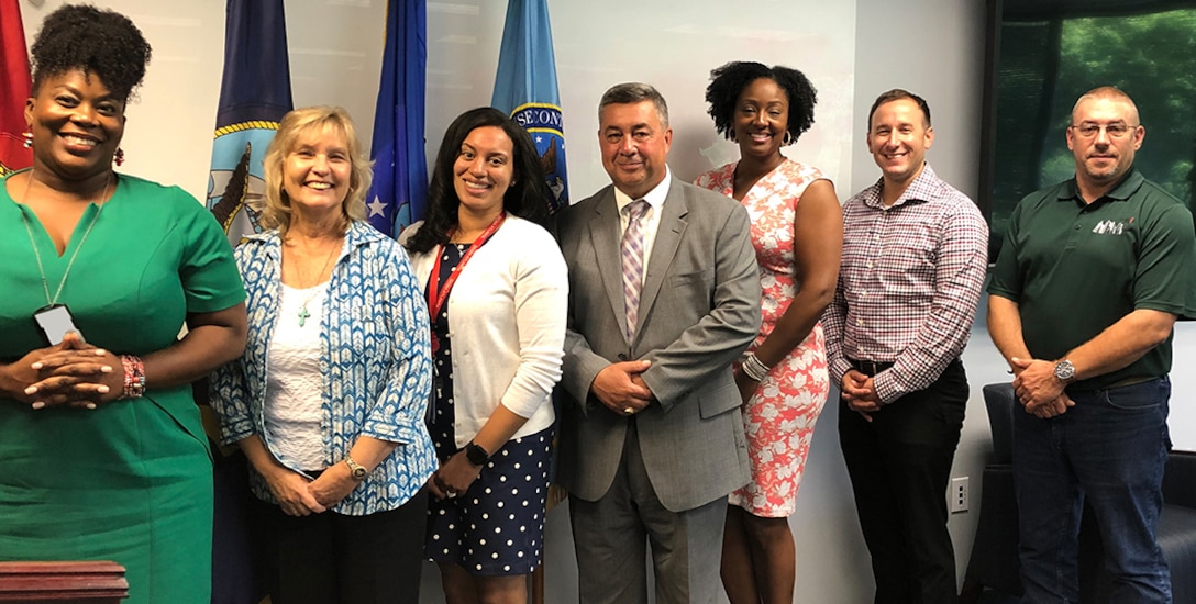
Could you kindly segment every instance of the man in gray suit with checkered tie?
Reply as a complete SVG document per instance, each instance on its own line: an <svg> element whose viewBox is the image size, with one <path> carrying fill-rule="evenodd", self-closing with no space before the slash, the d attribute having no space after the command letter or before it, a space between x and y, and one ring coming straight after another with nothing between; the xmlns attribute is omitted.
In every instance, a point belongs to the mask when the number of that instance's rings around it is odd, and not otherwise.
<svg viewBox="0 0 1196 604"><path fill-rule="evenodd" d="M664 98L621 84L598 106L614 181L562 211L569 265L561 481L580 600L714 602L726 495L749 480L731 363L759 329L748 212L682 183Z"/></svg>

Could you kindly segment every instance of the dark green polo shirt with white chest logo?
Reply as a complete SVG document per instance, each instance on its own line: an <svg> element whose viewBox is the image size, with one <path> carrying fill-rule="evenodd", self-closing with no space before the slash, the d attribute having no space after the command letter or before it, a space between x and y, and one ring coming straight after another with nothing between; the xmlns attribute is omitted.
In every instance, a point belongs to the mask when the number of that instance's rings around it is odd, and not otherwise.
<svg viewBox="0 0 1196 604"><path fill-rule="evenodd" d="M1075 179L1026 196L1009 216L988 292L1018 303L1035 358L1057 359L1130 312L1196 316L1196 229L1183 202L1131 168L1085 204ZM1102 388L1171 370L1171 337L1121 370L1078 382Z"/></svg>

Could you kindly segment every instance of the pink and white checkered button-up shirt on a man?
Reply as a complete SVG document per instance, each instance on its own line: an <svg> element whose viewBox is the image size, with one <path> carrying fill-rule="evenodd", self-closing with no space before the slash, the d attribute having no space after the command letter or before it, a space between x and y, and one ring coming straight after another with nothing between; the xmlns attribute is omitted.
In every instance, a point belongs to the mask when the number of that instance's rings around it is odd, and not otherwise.
<svg viewBox="0 0 1196 604"><path fill-rule="evenodd" d="M835 383L848 359L893 363L873 380L881 402L927 388L959 357L988 269L988 224L929 164L885 208L883 180L843 205L843 257L823 315Z"/></svg>

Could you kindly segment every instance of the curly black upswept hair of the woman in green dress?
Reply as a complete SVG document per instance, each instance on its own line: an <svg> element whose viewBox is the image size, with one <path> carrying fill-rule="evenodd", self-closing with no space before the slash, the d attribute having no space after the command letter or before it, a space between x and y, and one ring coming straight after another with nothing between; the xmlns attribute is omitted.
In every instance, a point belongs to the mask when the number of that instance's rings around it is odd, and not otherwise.
<svg viewBox="0 0 1196 604"><path fill-rule="evenodd" d="M129 18L91 5L63 5L48 14L30 53L33 94L47 78L81 69L128 100L150 63L150 43Z"/></svg>

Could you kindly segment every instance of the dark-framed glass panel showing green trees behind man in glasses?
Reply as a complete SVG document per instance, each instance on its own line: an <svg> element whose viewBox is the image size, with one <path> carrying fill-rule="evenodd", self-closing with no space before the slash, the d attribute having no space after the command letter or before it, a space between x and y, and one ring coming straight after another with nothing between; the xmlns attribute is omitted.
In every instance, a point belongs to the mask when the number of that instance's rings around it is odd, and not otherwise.
<svg viewBox="0 0 1196 604"><path fill-rule="evenodd" d="M1064 138L1072 105L1103 85L1137 105L1146 140L1135 166L1192 207L1196 4L990 0L990 16L999 20L990 27L981 204L994 244L1024 196L1075 174Z"/></svg>

